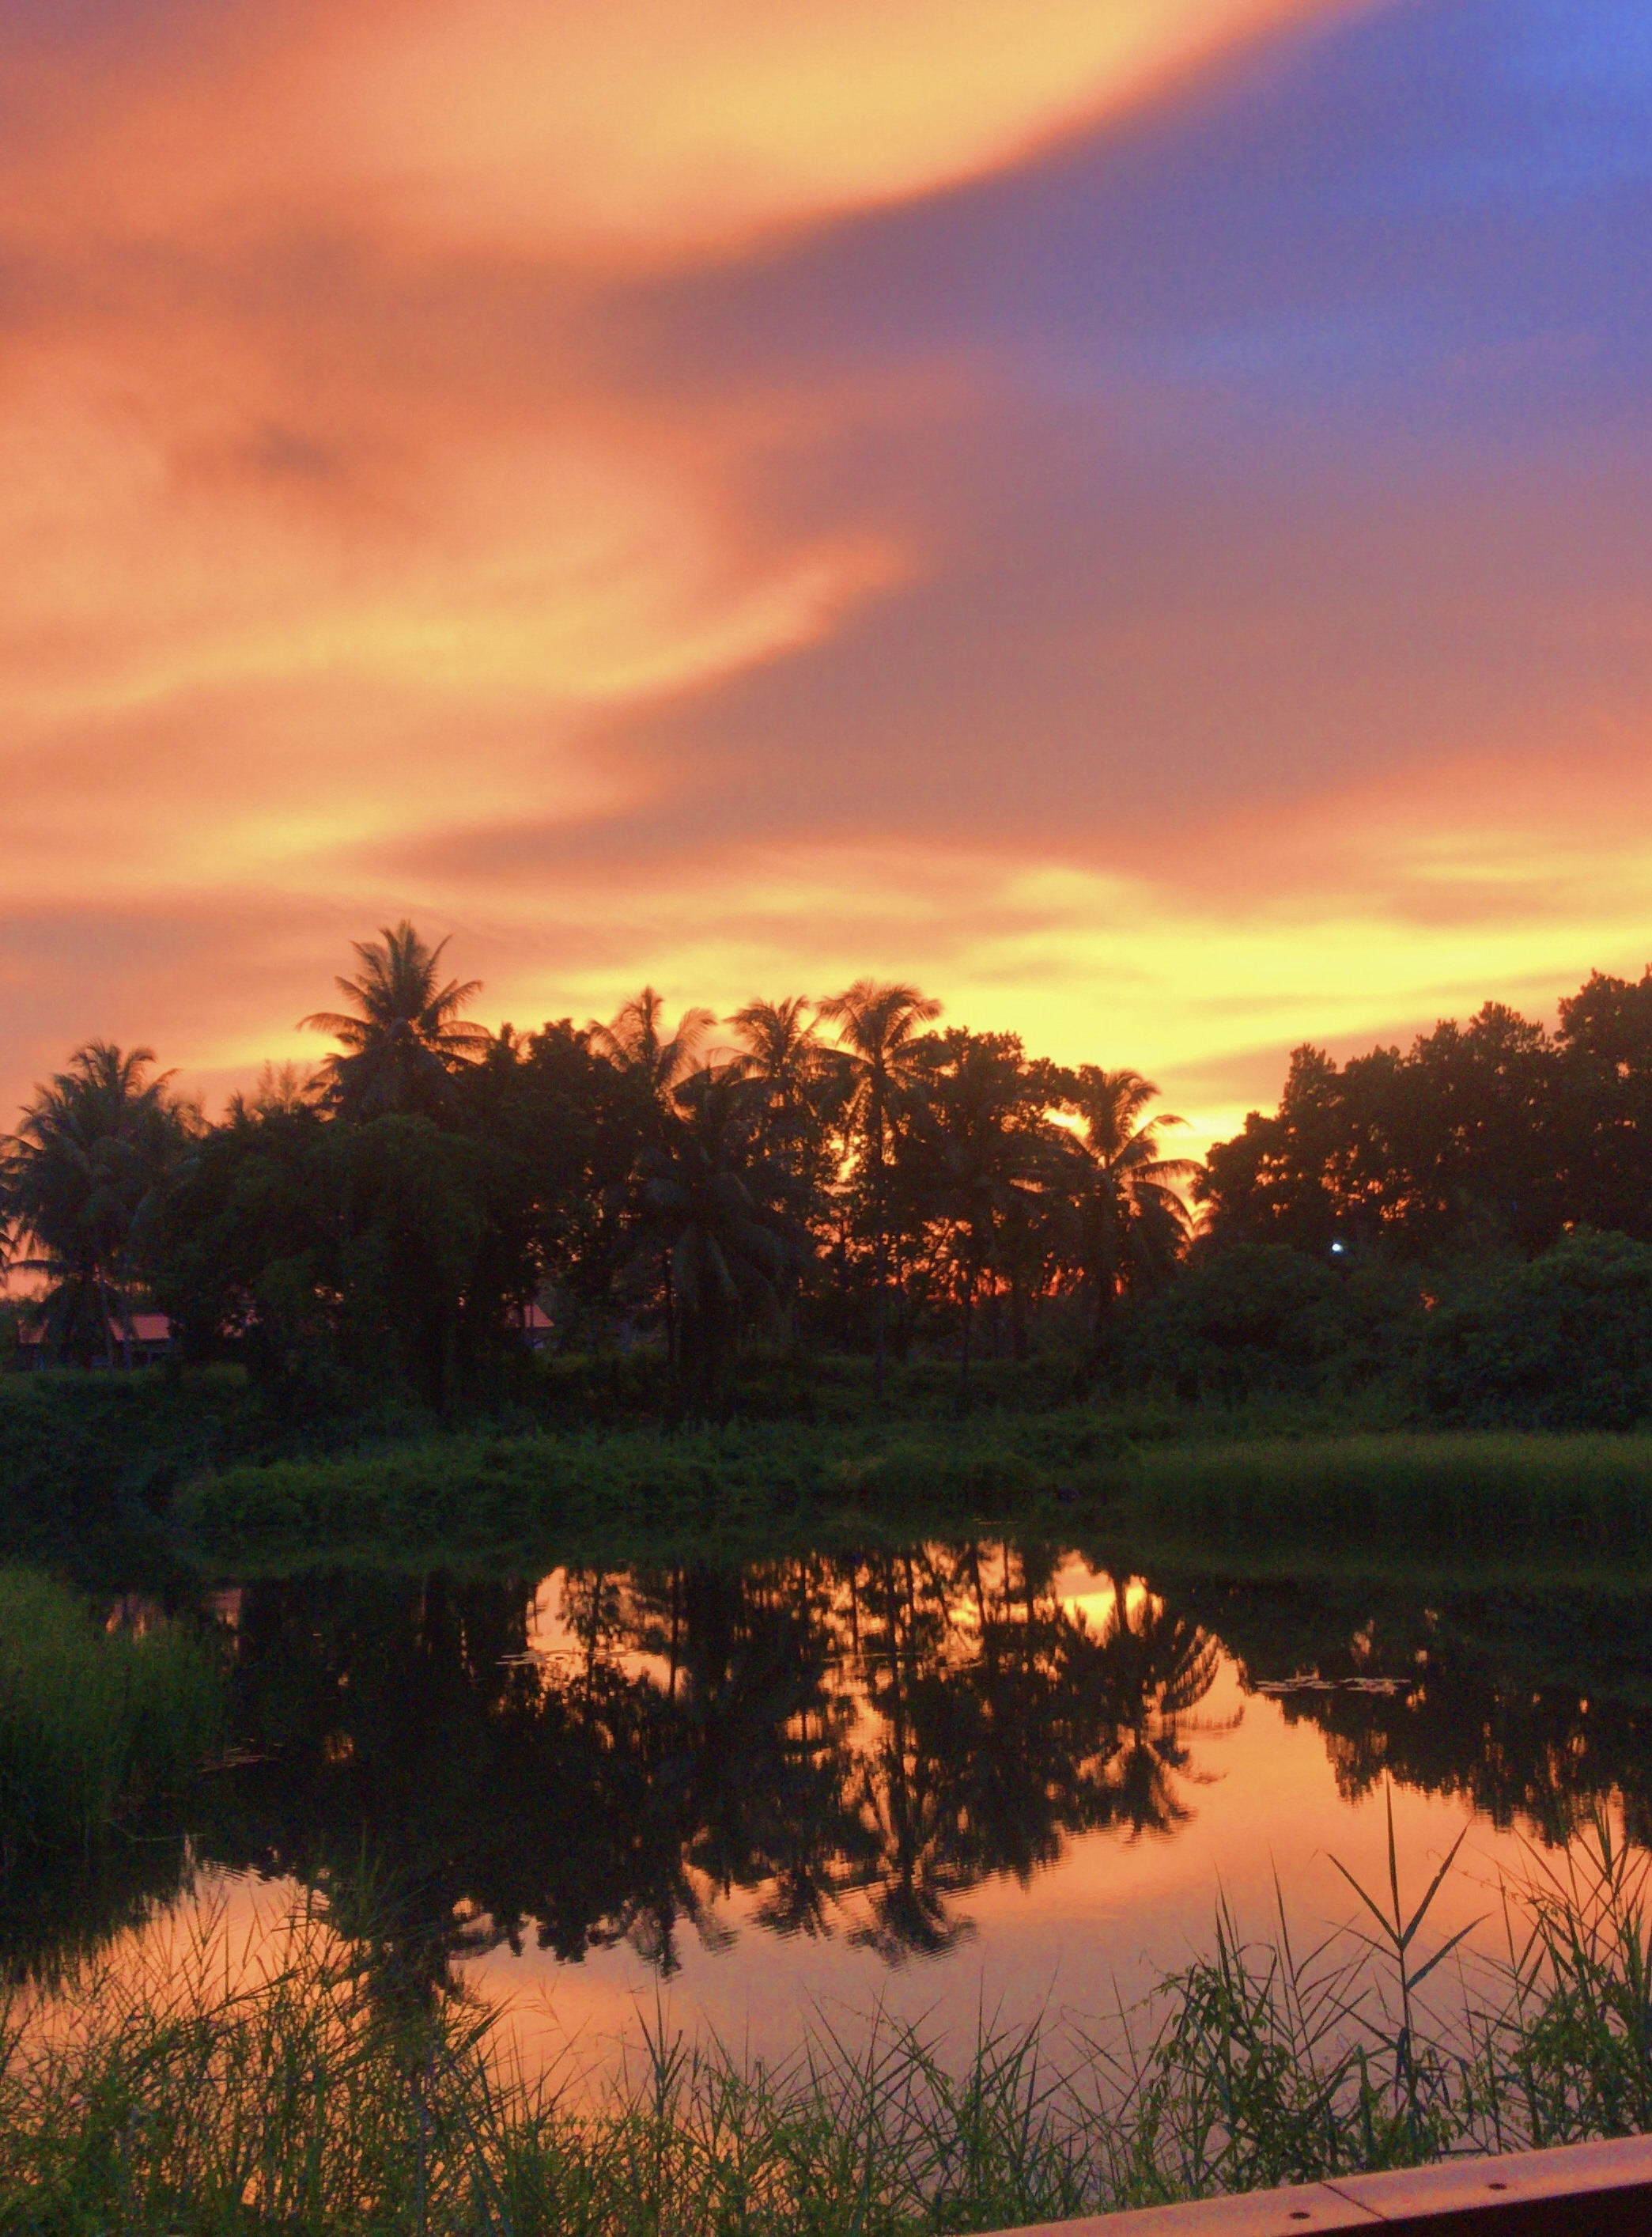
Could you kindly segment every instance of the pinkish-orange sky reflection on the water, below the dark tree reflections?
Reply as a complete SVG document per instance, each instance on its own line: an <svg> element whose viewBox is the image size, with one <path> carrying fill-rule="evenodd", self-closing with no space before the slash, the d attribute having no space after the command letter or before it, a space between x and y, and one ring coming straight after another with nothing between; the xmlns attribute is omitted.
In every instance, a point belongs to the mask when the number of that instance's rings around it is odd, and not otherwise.
<svg viewBox="0 0 1652 2237"><path fill-rule="evenodd" d="M1055 1591L1093 1629L1111 1620L1113 1586L1082 1561L1062 1566ZM1127 1599L1133 1613L1147 1588L1133 1582ZM961 1622L970 1622L968 1611ZM566 1644L554 1591L541 1595L539 1644ZM1292 1926L1323 1931L1352 1913L1332 1854L1370 1888L1386 1877L1382 1796L1344 1801L1326 1734L1288 1722L1276 1700L1245 1693L1232 1658L1223 1655L1191 1725L1191 1776L1178 1781L1189 1814L1171 1834L1080 1834L1026 1886L1010 1875L984 1881L959 1897L972 1933L939 1957L892 1969L876 1951L856 1948L845 1931L852 1908L829 1937L773 1935L753 1924L760 1895L735 1890L713 1906L727 1939L704 1946L684 1935L682 1969L666 1986L626 1944L592 1951L577 1966L532 1946L519 1957L499 1948L469 1966L469 1978L490 1998L510 2000L516 2038L534 2063L570 2047L577 2065L601 2060L657 2013L673 2029L715 2033L762 2058L787 2056L809 2024L854 2033L879 2011L955 2040L975 2029L977 2013L1107 2022L1120 1995L1142 1995L1160 1971L1209 1946L1218 1897L1247 1931L1268 1935L1279 1875ZM1422 1895L1462 1823L1460 1803L1395 1790L1402 1895ZM1484 1881L1520 1863L1520 1837L1482 1821L1431 1913L1442 1935L1480 1917ZM1491 1928L1487 1948L1496 1948Z"/></svg>

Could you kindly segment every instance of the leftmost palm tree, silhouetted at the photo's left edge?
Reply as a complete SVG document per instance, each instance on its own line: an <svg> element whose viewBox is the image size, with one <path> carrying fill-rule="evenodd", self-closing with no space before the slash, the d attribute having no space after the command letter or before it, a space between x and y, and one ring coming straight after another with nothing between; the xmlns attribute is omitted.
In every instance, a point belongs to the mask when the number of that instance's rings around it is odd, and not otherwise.
<svg viewBox="0 0 1652 2237"><path fill-rule="evenodd" d="M0 1237L9 1266L47 1280L51 1353L101 1351L112 1367L116 1324L130 1347L143 1235L192 1118L152 1063L154 1049L87 1042L0 1143Z"/></svg>

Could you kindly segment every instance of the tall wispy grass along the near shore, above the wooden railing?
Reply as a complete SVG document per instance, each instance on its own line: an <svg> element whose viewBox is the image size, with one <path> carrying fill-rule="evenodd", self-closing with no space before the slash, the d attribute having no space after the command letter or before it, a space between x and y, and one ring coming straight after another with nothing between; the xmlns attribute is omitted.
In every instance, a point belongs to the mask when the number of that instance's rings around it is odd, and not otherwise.
<svg viewBox="0 0 1652 2237"><path fill-rule="evenodd" d="M655 2029L592 2096L496 2016L295 1913L83 1964L0 2013L0 2230L939 2237L1652 2125L1645 1854L1502 1890L1507 1957L1375 1931L1214 1946L1095 2036L816 2029L780 2067ZM1442 1982L1451 1995L1433 2002Z"/></svg>

